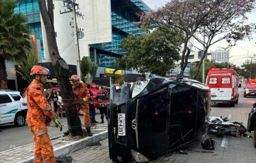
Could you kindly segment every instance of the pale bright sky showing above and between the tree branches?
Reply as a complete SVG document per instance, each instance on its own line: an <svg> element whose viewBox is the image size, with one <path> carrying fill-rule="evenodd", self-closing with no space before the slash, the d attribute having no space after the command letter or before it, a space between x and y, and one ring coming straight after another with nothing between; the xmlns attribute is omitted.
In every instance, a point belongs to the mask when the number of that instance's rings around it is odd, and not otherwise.
<svg viewBox="0 0 256 163"><path fill-rule="evenodd" d="M148 7L155 9L157 7L164 6L168 0L143 0ZM248 22L256 23L256 8L248 15ZM247 60L247 57L255 57L256 61L256 33L252 35L253 39L249 41L248 39L238 41L235 47L231 47L229 52L229 62L234 65L242 65L242 63ZM212 45L208 52L219 49L218 47L226 48L228 43L223 40L214 45ZM249 58L251 61L251 58Z"/></svg>

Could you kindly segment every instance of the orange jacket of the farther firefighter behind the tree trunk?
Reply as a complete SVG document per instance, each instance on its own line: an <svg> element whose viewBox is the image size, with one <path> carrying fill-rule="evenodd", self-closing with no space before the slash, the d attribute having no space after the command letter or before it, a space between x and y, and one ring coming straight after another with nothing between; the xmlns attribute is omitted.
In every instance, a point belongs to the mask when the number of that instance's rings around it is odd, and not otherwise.
<svg viewBox="0 0 256 163"><path fill-rule="evenodd" d="M83 98L86 98L87 100L90 99L90 92L85 83L81 83L79 87L73 85L72 91L75 100L82 100ZM86 103L86 105L88 105L88 103Z"/></svg>

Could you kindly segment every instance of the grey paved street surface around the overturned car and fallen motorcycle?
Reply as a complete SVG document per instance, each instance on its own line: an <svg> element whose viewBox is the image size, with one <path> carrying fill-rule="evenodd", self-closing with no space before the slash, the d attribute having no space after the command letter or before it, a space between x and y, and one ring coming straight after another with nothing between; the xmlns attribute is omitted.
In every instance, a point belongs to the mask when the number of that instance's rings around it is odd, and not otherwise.
<svg viewBox="0 0 256 163"><path fill-rule="evenodd" d="M213 104L211 115L229 116L231 122L243 122L247 126L247 118L252 108L252 104L250 104L252 101L256 101L256 97L243 98L243 89L240 89L239 101L235 107ZM201 140L199 140L193 146L184 149L188 155L174 153L150 163L256 163L256 148L253 147L252 139L233 136L217 137L207 134L206 137L211 137L217 141L214 153L191 151L203 150ZM109 159L108 139L76 151L71 156L74 159L74 163L112 163Z"/></svg>

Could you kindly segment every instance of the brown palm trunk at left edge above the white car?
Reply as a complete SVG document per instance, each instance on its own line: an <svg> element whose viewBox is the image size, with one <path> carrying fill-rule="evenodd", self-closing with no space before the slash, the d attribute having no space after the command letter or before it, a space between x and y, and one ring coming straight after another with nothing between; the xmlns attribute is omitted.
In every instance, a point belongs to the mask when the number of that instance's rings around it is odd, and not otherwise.
<svg viewBox="0 0 256 163"><path fill-rule="evenodd" d="M0 55L0 89L8 89L5 58Z"/></svg>

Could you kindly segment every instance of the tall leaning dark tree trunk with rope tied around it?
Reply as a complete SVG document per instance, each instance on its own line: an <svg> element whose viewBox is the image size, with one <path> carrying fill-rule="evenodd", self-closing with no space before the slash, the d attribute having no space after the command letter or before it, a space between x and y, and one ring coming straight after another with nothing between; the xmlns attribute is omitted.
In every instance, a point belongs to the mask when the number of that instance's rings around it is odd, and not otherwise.
<svg viewBox="0 0 256 163"><path fill-rule="evenodd" d="M50 58L55 69L56 78L61 92L62 99L71 99L64 100L64 103L73 102L73 93L71 84L68 76L68 64L62 59L58 52L58 47L55 38L55 29L54 29L54 16L53 16L53 0L48 0L48 7L46 7L45 0L38 0L40 13L44 22L47 45L50 53ZM48 10L47 10L48 9ZM67 114L68 127L71 136L82 136L83 131L81 127L81 121L76 113L75 106L65 106L65 112Z"/></svg>

